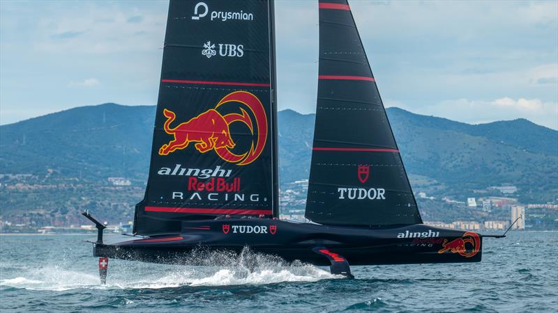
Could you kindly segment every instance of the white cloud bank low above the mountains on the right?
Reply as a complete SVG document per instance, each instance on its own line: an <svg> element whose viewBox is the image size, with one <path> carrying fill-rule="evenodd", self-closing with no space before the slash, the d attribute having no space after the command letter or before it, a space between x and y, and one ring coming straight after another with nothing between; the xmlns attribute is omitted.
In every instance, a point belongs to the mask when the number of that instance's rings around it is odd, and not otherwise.
<svg viewBox="0 0 558 313"><path fill-rule="evenodd" d="M470 124L527 118L538 125L558 129L558 103L543 102L540 99L450 99L414 111Z"/></svg>

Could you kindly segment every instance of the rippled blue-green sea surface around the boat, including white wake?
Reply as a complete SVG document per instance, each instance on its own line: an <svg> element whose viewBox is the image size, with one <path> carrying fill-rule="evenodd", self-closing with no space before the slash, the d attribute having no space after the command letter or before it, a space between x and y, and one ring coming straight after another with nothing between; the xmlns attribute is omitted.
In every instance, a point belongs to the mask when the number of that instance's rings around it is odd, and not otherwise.
<svg viewBox="0 0 558 313"><path fill-rule="evenodd" d="M485 239L476 264L353 266L354 280L262 256L252 273L230 255L199 267L110 259L105 286L82 242L93 237L0 236L0 312L558 312L558 232Z"/></svg>

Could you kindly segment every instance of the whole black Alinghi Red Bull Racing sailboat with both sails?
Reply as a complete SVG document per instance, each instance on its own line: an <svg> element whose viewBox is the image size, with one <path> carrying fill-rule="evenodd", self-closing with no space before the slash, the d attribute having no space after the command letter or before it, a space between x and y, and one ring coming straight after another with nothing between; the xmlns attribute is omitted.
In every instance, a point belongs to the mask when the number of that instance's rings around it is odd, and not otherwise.
<svg viewBox="0 0 558 313"><path fill-rule="evenodd" d="M483 236L424 225L346 0L319 1L306 218L279 220L273 0L171 0L149 181L109 258L183 263L193 249L330 266L480 262Z"/></svg>

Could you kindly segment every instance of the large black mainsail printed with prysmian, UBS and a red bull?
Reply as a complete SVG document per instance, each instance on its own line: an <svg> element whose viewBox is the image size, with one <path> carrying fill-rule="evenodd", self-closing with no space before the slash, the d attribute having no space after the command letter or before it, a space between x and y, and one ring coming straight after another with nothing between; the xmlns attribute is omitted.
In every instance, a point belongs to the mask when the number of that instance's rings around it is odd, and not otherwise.
<svg viewBox="0 0 558 313"><path fill-rule="evenodd" d="M277 215L273 40L273 1L170 1L136 234Z"/></svg>

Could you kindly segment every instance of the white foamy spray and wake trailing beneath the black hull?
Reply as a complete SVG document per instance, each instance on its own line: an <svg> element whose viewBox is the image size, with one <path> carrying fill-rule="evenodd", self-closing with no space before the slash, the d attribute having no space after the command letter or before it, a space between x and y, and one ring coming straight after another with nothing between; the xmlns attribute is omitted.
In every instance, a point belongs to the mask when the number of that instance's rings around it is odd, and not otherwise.
<svg viewBox="0 0 558 313"><path fill-rule="evenodd" d="M107 284L99 282L96 259L86 268L38 266L0 280L0 289L65 291L70 289L162 289L175 287L217 287L278 282L316 282L342 278L301 262L288 263L248 249L239 255L227 251L195 252L196 266L162 265L110 260ZM193 264L185 260L185 264ZM190 260L191 261L191 260Z"/></svg>

